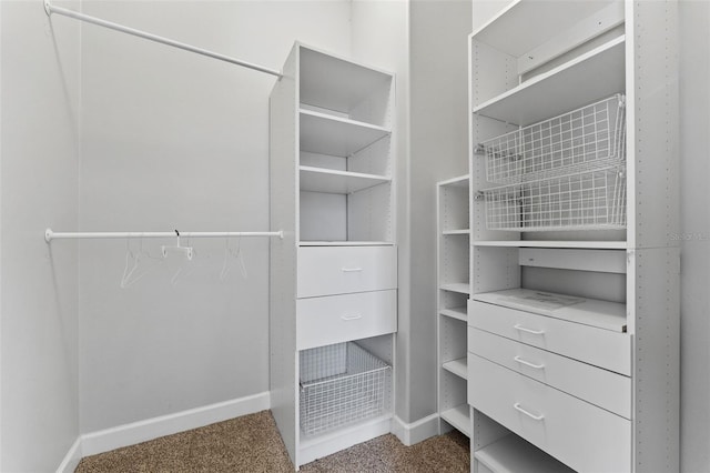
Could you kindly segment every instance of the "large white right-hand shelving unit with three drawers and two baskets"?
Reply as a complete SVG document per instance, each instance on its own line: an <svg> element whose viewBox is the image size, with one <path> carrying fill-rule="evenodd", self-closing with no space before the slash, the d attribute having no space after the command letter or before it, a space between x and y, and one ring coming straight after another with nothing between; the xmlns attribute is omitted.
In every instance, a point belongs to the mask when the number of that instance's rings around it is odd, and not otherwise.
<svg viewBox="0 0 710 473"><path fill-rule="evenodd" d="M474 472L680 467L677 33L676 1L518 0L469 37Z"/></svg>

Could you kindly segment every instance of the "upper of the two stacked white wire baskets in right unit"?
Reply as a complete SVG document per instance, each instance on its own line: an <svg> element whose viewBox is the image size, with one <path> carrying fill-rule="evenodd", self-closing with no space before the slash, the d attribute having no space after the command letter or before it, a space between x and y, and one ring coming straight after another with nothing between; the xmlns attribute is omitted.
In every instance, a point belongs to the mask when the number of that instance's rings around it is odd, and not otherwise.
<svg viewBox="0 0 710 473"><path fill-rule="evenodd" d="M481 142L486 180L509 184L618 165L626 159L625 110L616 94Z"/></svg>

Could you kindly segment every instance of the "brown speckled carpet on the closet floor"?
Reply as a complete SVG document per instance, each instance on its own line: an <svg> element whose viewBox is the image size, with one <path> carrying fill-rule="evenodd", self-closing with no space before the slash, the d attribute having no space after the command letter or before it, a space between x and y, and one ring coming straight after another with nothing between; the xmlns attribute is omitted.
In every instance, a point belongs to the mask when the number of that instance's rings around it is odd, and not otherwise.
<svg viewBox="0 0 710 473"><path fill-rule="evenodd" d="M77 473L292 472L270 411L87 456ZM468 472L468 439L458 432L404 446L383 435L301 467L302 472Z"/></svg>

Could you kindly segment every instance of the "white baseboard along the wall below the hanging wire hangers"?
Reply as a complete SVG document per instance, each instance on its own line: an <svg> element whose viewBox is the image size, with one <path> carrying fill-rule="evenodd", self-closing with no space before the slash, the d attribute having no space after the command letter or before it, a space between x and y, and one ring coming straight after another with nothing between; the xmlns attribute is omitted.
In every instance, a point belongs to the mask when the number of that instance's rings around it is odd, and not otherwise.
<svg viewBox="0 0 710 473"><path fill-rule="evenodd" d="M82 456L109 452L271 407L268 392L220 402L81 435ZM70 470L71 471L71 470Z"/></svg>

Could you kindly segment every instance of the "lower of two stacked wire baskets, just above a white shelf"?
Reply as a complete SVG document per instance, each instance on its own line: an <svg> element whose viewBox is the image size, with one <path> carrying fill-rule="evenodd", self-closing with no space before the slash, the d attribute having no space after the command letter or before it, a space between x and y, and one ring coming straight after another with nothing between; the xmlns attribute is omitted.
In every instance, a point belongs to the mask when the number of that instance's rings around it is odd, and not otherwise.
<svg viewBox="0 0 710 473"><path fill-rule="evenodd" d="M488 230L615 230L626 228L622 167L486 189Z"/></svg>

